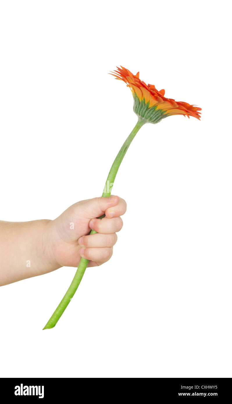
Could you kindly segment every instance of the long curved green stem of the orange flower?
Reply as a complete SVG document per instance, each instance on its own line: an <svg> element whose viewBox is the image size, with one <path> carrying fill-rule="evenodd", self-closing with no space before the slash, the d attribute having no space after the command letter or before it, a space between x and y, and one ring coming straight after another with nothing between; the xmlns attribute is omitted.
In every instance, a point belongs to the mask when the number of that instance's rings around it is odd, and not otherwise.
<svg viewBox="0 0 232 404"><path fill-rule="evenodd" d="M131 142L133 141L136 133L138 132L138 130L146 123L145 120L139 118L137 124L135 125L135 127L133 128L132 132L130 133L130 135L128 136L128 138L126 139L126 141L123 143L120 151L118 152L118 155L116 157L116 159L113 162L113 165L110 169L110 173L107 177L106 183L105 183L105 188L103 191L102 196L103 197L109 197L111 194L111 189L116 177L116 174L118 172L118 168L122 162L123 157L125 156L127 149L129 147L129 145L131 144ZM105 215L101 216L100 219L102 219ZM90 234L95 234L97 233L97 231L95 230L91 230ZM85 258L81 258L80 259L80 263L78 265L78 269L76 271L76 274L72 280L72 283L70 285L70 287L68 288L67 292L65 293L63 299L61 300L61 302L59 303L59 306L57 306L57 308L55 309L53 315L51 316L51 318L49 319L49 321L47 322L46 326L43 328L43 330L46 330L47 328L53 328L55 327L57 321L59 320L59 318L62 316L63 312L65 311L67 305L70 303L72 297L74 296L80 281L82 280L82 277L84 275L84 271L86 270L86 267L89 263L88 259Z"/></svg>

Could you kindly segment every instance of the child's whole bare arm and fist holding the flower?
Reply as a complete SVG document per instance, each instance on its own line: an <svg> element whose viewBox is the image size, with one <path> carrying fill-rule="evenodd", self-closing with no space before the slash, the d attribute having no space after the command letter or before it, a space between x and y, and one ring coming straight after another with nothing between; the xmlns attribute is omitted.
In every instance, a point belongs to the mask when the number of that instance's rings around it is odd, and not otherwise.
<svg viewBox="0 0 232 404"><path fill-rule="evenodd" d="M62 266L89 266L112 256L126 202L111 196L77 202L55 220L0 221L0 286L46 274ZM103 219L96 219L105 213ZM98 234L89 234L94 229Z"/></svg>

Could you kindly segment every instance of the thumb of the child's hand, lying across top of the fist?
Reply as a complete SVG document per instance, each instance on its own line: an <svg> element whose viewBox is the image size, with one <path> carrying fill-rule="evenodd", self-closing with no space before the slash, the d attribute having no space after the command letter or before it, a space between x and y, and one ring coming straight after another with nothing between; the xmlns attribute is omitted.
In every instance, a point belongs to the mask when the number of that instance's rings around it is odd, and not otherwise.
<svg viewBox="0 0 232 404"><path fill-rule="evenodd" d="M110 196L110 198L93 198L85 201L78 202L74 205L74 209L81 209L85 213L86 217L91 219L92 217L99 217L105 213L105 210L117 205L119 198L116 195Z"/></svg>

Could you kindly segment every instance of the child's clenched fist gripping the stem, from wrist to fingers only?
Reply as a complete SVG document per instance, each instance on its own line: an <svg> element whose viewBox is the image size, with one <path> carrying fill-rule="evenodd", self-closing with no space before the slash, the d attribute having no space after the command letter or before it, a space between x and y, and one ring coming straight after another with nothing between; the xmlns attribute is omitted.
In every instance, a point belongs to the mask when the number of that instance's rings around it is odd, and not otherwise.
<svg viewBox="0 0 232 404"><path fill-rule="evenodd" d="M118 196L94 198L77 202L57 219L47 223L47 246L51 264L77 267L81 257L89 266L101 265L113 254L116 232L122 228L121 215L126 202ZM96 219L103 215L103 219ZM88 235L91 229L97 234ZM45 239L46 240L46 239ZM55 269L55 268L54 268Z"/></svg>

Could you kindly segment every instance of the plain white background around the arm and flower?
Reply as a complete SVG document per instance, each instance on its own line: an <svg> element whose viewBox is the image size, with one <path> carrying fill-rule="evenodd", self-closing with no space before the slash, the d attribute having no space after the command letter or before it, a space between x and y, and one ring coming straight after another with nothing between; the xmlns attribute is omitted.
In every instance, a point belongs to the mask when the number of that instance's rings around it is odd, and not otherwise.
<svg viewBox="0 0 232 404"><path fill-rule="evenodd" d="M232 377L227 1L0 2L0 217L55 219L101 195L136 123L123 65L202 107L143 126L113 193L112 259L0 288L2 377Z"/></svg>

